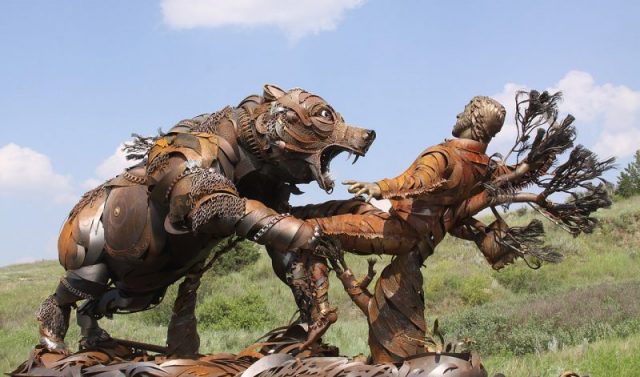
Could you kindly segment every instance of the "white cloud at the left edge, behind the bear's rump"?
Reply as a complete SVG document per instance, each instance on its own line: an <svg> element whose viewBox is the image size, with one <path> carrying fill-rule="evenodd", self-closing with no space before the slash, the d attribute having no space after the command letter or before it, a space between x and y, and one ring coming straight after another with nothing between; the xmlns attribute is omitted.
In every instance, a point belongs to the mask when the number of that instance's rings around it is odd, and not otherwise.
<svg viewBox="0 0 640 377"><path fill-rule="evenodd" d="M56 202L72 202L71 178L56 173L49 157L14 143L0 148L0 196L46 195Z"/></svg>

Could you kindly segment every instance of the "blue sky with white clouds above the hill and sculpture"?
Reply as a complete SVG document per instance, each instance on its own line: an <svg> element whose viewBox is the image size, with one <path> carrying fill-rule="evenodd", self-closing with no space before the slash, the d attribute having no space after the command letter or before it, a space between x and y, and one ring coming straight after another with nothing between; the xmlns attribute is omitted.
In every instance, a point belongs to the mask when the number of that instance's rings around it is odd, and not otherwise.
<svg viewBox="0 0 640 377"><path fill-rule="evenodd" d="M337 180L398 174L472 96L511 109L518 88L563 90L578 142L625 166L640 147L639 16L632 1L2 1L0 265L56 258L69 209L122 167L132 132L265 83L376 130L366 158L334 162ZM298 203L330 198L305 191Z"/></svg>

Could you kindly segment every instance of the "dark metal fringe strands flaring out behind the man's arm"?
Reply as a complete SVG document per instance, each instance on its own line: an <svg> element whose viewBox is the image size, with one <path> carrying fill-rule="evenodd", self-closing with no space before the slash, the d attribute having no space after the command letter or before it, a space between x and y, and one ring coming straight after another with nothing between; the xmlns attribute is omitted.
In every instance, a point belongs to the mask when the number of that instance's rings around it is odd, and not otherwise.
<svg viewBox="0 0 640 377"><path fill-rule="evenodd" d="M528 169L515 179L488 182L484 186L497 202L508 207L517 201L522 188L537 185L542 192L531 205L562 229L577 236L593 232L597 220L590 215L599 208L611 205L604 187L607 182L602 175L614 167L615 159L601 161L582 145L573 148L575 118L567 115L563 120L558 120L557 104L561 99L559 92L549 94L532 90L517 93L515 120L518 137L504 160L515 153L517 163L526 163ZM558 157L569 150L567 160L553 168ZM600 181L601 184L594 186L593 181ZM550 200L552 195L558 193L569 195L569 200L565 203ZM514 241L509 246L520 249L517 244ZM533 250L540 251L538 256L542 260L557 259L555 251L535 247L530 250L530 255L534 255Z"/></svg>

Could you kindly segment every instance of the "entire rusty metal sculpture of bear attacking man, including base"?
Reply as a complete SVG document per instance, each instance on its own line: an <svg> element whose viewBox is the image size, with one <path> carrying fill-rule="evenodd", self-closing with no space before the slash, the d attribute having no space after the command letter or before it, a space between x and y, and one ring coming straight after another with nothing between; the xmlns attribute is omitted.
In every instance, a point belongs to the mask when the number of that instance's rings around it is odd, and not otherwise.
<svg viewBox="0 0 640 377"><path fill-rule="evenodd" d="M561 259L544 244L539 220L510 227L496 210L501 205L528 203L574 236L594 229L591 214L610 201L591 182L601 180L613 159L600 161L573 146L574 119L558 119L559 99L559 93L518 93L518 136L503 157L485 152L502 128L504 107L475 97L458 115L456 138L426 149L399 176L347 181L357 198L298 208L288 206L296 183L315 179L330 191L330 160L343 150L363 155L374 137L346 126L319 97L267 86L263 97L248 97L238 108L182 121L155 139L138 138L129 151L145 162L86 194L71 212L59 244L68 273L39 314L43 345L12 375L486 376L477 355L455 353L426 336L420 267L446 234L473 241L494 269L517 258L532 268ZM558 165L565 152L567 161ZM533 185L538 193L523 191ZM569 199L554 203L557 193ZM391 210L362 195L390 199ZM488 225L473 217L485 208L495 216ZM196 357L195 291L217 257L205 264L203 245L232 233L267 245L309 326L277 329L239 355ZM375 261L358 280L340 248L394 256L373 292ZM167 261L180 268L166 268ZM336 320L327 263L367 317L366 362L336 357L335 347L318 342ZM107 267L111 289L100 283ZM101 315L149 307L181 277L167 348L111 339L97 327ZM64 350L68 306L83 298L78 318L85 350L65 357L56 351Z"/></svg>

